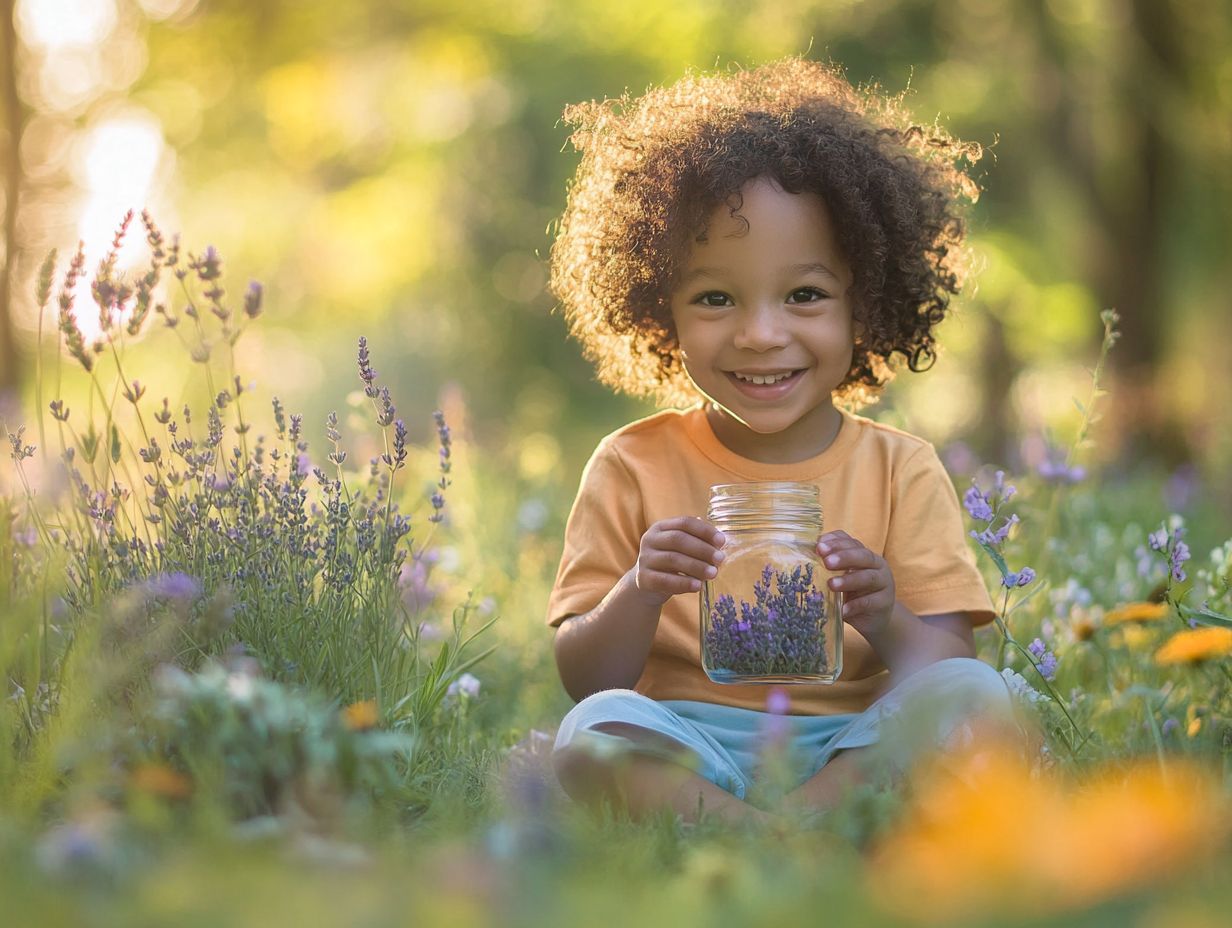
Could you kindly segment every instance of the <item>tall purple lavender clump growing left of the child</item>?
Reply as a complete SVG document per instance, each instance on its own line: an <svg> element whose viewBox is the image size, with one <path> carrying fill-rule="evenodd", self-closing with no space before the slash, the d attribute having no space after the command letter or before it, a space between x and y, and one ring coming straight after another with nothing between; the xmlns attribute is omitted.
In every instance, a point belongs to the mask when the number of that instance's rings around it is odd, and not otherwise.
<svg viewBox="0 0 1232 928"><path fill-rule="evenodd" d="M288 414L277 397L272 434L256 431L255 385L237 371L234 349L262 312L261 285L250 283L233 308L217 250L181 253L179 239L168 242L148 213L142 226L149 265L126 280L117 255L132 218L126 216L90 281L97 336L86 338L78 323L83 248L58 291L59 350L47 409L69 502L48 509L27 479L27 462L38 445L47 447L43 419L37 445L22 428L12 430L10 457L27 505L16 521L14 508L6 510L2 543L7 550L16 532L32 531L38 557L63 564L52 622L63 636L71 638L83 621L107 624L117 611L136 613L126 621L143 632L166 627L169 609L179 610L184 621L175 624L172 646L160 659L191 669L239 643L275 682L341 704L372 700L389 725L430 730L450 684L488 653L469 653L483 631L467 627L469 598L455 609L452 629L428 647L419 635L426 616L402 589L408 566L430 560L432 530L444 520L451 467L444 415L434 417L437 473L418 523L398 502L410 489L402 473L409 430L378 382L366 339L359 341L359 378L383 444L366 467L344 467L347 451L335 413L324 423L330 447L324 466L309 455L303 417ZM37 283L39 327L54 271L53 253ZM172 292L163 293L161 283ZM200 372L209 397L203 410L159 397L126 370L127 343L156 323ZM85 373L87 396L74 403L85 409L70 408L65 397L65 354ZM39 361L41 405L43 388Z"/></svg>

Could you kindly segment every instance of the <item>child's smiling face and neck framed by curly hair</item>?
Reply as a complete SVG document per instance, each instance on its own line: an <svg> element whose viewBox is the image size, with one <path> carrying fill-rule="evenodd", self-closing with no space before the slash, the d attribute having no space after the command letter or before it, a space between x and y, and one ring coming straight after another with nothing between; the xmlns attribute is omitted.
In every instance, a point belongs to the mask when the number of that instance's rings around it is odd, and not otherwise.
<svg viewBox="0 0 1232 928"><path fill-rule="evenodd" d="M719 440L754 460L798 461L838 429L832 393L851 368L851 270L821 197L768 179L742 193L748 232L727 206L713 211L671 315L689 376L718 407ZM756 385L754 375L790 376Z"/></svg>

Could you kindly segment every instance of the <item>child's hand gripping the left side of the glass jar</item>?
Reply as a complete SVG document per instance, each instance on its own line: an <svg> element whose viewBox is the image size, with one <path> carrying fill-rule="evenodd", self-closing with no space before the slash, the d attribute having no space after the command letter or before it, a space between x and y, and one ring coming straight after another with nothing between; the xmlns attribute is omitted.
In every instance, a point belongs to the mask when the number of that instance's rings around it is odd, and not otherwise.
<svg viewBox="0 0 1232 928"><path fill-rule="evenodd" d="M678 593L696 593L723 562L723 541L713 525L691 515L654 523L642 536L633 567L638 592L660 606Z"/></svg>

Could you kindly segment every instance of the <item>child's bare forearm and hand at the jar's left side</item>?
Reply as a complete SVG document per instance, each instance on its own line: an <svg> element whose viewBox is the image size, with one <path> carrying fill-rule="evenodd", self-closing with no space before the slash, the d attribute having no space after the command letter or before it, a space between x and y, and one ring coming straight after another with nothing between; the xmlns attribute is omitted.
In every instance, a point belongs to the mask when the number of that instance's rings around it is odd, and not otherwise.
<svg viewBox="0 0 1232 928"><path fill-rule="evenodd" d="M650 653L663 605L696 593L722 562L723 536L703 519L654 523L642 535L637 563L589 613L564 620L556 632L556 665L580 701L605 689L632 689Z"/></svg>

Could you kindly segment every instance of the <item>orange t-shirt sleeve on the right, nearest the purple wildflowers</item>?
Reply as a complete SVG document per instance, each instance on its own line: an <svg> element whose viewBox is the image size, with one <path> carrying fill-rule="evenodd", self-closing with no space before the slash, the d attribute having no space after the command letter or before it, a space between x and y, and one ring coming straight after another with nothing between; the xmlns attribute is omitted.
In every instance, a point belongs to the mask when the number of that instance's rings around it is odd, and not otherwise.
<svg viewBox="0 0 1232 928"><path fill-rule="evenodd" d="M917 615L968 613L972 625L995 615L967 543L958 494L936 451L924 445L894 481L886 560L899 601Z"/></svg>

